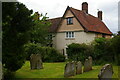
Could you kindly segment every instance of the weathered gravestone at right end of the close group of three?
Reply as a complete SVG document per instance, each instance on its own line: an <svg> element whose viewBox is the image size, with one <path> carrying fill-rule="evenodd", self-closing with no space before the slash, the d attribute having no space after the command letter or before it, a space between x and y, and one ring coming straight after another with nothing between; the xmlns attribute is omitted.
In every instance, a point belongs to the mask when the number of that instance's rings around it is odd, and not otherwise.
<svg viewBox="0 0 120 80"><path fill-rule="evenodd" d="M92 70L92 57L89 56L88 59L85 60L85 63L84 63L84 72L88 72Z"/></svg>

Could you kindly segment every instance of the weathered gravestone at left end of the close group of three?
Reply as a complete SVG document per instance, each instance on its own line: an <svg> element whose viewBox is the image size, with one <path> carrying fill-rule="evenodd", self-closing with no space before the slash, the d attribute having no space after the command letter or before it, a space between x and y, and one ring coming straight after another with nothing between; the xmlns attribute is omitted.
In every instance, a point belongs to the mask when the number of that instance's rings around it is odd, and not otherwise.
<svg viewBox="0 0 120 80"><path fill-rule="evenodd" d="M65 65L64 77L74 76L76 74L75 62L69 62Z"/></svg>

